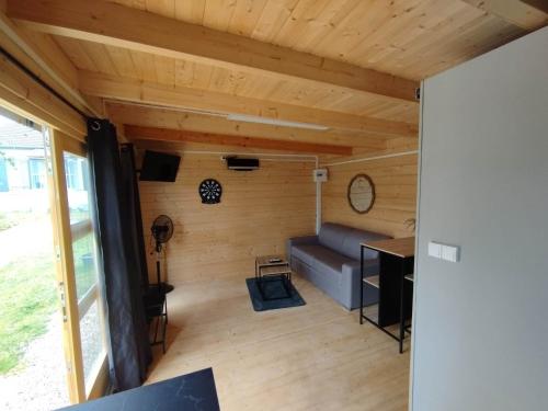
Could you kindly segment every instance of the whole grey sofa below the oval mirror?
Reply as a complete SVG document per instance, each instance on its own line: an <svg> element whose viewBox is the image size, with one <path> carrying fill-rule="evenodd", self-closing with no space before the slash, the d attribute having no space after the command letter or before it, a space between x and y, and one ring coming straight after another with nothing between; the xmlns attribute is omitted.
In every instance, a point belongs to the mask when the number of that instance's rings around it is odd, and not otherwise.
<svg viewBox="0 0 548 411"><path fill-rule="evenodd" d="M287 258L292 270L349 310L359 307L359 243L389 237L358 230L334 222L324 222L318 236L295 237L287 240ZM378 274L378 253L364 250L364 275ZM364 292L367 305L378 299L372 287Z"/></svg>

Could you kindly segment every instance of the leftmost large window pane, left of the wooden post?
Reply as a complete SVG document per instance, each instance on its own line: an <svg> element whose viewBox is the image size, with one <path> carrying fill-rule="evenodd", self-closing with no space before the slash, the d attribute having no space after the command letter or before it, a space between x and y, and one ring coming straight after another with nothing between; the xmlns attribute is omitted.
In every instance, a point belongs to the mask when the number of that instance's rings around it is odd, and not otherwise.
<svg viewBox="0 0 548 411"><path fill-rule="evenodd" d="M70 368L53 175L43 129L4 114L0 109L0 409L58 409L70 404Z"/></svg>

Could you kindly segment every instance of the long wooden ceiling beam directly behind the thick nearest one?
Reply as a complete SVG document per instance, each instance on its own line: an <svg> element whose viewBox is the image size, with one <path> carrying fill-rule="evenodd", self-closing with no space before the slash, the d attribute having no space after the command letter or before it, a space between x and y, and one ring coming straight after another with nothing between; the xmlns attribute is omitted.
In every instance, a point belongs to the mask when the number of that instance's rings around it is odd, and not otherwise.
<svg viewBox="0 0 548 411"><path fill-rule="evenodd" d="M246 114L265 118L319 124L329 128L373 133L390 137L416 138L418 126L410 123L330 112L300 105L243 98L183 87L81 71L83 94L219 114Z"/></svg>

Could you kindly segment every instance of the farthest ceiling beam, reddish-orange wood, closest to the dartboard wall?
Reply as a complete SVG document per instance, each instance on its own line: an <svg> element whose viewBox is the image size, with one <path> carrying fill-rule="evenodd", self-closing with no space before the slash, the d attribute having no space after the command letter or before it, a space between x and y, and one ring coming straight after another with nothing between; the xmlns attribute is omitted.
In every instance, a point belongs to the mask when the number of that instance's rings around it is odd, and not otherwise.
<svg viewBox="0 0 548 411"><path fill-rule="evenodd" d="M265 150L352 156L352 147L345 146L332 146L301 141L281 141L267 138L229 136L225 134L141 127L135 125L124 125L124 130L125 135L133 140L138 139L172 142L201 142L216 146L260 148Z"/></svg>

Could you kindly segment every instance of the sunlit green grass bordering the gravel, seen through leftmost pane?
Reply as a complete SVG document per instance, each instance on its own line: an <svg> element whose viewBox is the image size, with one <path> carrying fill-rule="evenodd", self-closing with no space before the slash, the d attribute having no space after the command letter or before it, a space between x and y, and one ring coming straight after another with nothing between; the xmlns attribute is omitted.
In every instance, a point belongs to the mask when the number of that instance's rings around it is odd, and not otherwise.
<svg viewBox="0 0 548 411"><path fill-rule="evenodd" d="M47 331L57 309L53 255L0 267L0 375L15 368L26 345Z"/></svg>

